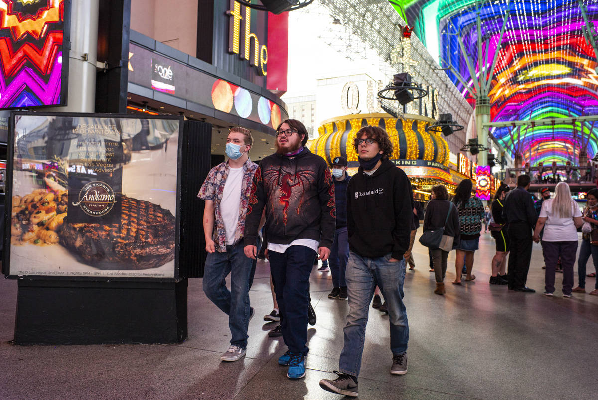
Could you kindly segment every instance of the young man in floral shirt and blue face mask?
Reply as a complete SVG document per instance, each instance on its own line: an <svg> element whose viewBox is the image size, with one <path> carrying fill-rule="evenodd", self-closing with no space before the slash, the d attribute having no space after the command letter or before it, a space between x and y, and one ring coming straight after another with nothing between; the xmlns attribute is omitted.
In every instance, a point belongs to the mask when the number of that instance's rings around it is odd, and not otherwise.
<svg viewBox="0 0 598 400"><path fill-rule="evenodd" d="M245 356L247 327L254 311L249 306L252 260L243 253L245 216L257 169L257 164L249 159L252 144L249 129L240 126L231 129L225 149L228 160L210 170L197 195L206 202L203 232L208 257L203 291L228 314L232 335L230 347L221 356L224 361ZM231 291L224 281L228 274L231 274Z"/></svg>

